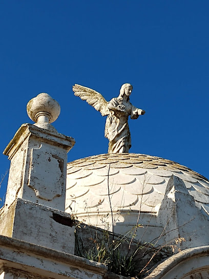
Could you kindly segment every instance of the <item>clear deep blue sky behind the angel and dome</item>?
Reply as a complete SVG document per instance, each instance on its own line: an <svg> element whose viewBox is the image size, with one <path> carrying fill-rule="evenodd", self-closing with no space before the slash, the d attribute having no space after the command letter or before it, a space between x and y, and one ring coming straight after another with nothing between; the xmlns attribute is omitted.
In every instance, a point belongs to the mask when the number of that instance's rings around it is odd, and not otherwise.
<svg viewBox="0 0 209 279"><path fill-rule="evenodd" d="M0 3L1 153L23 123L28 101L47 92L58 132L76 140L68 161L107 153L106 117L72 85L107 101L131 83L130 152L168 158L209 177L208 1L14 1ZM1 174L9 161L0 155ZM4 196L6 180L0 196Z"/></svg>

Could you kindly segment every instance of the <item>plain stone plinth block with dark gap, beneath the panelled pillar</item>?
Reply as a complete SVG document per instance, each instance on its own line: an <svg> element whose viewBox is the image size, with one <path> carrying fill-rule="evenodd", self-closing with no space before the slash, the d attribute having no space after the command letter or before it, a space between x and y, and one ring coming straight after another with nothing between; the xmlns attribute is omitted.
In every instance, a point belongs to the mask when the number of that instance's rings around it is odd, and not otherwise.
<svg viewBox="0 0 209 279"><path fill-rule="evenodd" d="M70 214L20 198L4 212L0 233L29 243L74 254Z"/></svg>

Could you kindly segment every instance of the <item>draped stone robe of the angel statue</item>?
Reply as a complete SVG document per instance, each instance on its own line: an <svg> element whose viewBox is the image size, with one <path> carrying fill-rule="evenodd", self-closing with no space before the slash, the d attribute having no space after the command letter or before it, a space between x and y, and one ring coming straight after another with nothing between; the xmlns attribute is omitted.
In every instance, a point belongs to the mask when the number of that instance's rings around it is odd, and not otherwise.
<svg viewBox="0 0 209 279"><path fill-rule="evenodd" d="M134 107L129 101L122 103L121 98L113 98L109 102L115 108L124 105L124 112L110 110L105 125L105 137L109 139L108 153L128 153L131 148L131 134L128 118L137 119L141 109Z"/></svg>

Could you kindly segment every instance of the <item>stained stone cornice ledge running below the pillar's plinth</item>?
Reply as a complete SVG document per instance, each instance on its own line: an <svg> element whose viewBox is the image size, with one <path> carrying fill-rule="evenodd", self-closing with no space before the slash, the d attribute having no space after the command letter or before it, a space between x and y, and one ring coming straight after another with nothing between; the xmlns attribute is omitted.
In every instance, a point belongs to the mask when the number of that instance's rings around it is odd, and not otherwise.
<svg viewBox="0 0 209 279"><path fill-rule="evenodd" d="M1 279L101 279L107 274L107 267L86 258L2 235L0 266Z"/></svg>

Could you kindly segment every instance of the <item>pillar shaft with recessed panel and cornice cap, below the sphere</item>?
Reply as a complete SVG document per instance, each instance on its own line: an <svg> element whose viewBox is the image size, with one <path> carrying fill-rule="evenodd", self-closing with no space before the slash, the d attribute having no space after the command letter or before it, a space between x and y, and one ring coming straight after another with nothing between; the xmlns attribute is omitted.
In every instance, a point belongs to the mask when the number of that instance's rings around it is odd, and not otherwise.
<svg viewBox="0 0 209 279"><path fill-rule="evenodd" d="M5 206L20 197L65 210L67 152L74 139L23 124L4 151L11 160Z"/></svg>

